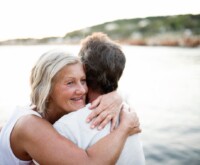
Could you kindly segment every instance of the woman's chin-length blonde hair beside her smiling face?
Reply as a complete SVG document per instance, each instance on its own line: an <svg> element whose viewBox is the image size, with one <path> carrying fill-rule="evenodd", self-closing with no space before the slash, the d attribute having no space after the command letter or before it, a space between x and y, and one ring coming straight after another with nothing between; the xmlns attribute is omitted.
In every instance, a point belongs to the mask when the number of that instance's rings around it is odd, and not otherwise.
<svg viewBox="0 0 200 165"><path fill-rule="evenodd" d="M65 66L81 63L80 59L64 50L44 53L33 67L30 77L31 102L40 113L46 112L53 78Z"/></svg>

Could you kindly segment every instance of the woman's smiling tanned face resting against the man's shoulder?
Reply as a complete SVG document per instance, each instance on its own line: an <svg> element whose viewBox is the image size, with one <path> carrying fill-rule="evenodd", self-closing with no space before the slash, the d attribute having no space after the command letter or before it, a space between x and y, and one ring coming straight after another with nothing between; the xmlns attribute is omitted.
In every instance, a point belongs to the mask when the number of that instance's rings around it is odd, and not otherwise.
<svg viewBox="0 0 200 165"><path fill-rule="evenodd" d="M87 90L83 65L65 66L53 79L48 108L64 114L83 108Z"/></svg>

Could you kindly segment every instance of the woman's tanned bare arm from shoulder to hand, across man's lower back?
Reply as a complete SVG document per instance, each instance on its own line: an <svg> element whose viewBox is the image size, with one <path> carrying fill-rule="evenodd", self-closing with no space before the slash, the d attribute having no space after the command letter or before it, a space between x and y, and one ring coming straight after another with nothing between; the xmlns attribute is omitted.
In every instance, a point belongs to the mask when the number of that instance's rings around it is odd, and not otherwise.
<svg viewBox="0 0 200 165"><path fill-rule="evenodd" d="M117 161L127 137L140 132L133 115L123 112L121 116L120 126L87 151L59 135L44 119L36 116L23 117L13 130L11 142L18 146L12 146L12 149L16 156L22 157L18 153L19 150L24 151L25 155L41 165L113 164Z"/></svg>

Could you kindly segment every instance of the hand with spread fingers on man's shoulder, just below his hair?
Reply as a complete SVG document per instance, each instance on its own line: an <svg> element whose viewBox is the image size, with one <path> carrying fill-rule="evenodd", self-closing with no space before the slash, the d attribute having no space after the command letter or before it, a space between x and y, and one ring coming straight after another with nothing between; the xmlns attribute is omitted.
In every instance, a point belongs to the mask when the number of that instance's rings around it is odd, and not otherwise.
<svg viewBox="0 0 200 165"><path fill-rule="evenodd" d="M121 107L122 98L116 91L101 95L91 103L90 109L93 110L87 117L87 122L93 120L91 128L98 127L98 129L101 130L106 126L106 124L112 121L112 131L117 125L117 119Z"/></svg>

